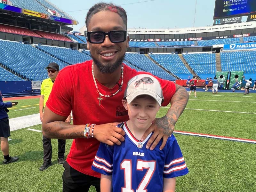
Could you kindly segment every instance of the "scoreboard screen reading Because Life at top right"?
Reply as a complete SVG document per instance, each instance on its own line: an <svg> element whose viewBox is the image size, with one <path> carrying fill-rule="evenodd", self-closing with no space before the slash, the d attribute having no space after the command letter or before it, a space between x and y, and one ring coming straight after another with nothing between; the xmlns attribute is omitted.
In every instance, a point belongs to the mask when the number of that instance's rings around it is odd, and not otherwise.
<svg viewBox="0 0 256 192"><path fill-rule="evenodd" d="M213 19L256 13L256 0L216 0Z"/></svg>

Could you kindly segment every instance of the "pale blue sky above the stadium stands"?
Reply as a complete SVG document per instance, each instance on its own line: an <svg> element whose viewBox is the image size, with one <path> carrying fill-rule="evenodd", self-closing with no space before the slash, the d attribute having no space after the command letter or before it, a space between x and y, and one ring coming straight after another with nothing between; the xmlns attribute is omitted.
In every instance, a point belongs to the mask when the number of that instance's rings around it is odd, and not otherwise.
<svg viewBox="0 0 256 192"><path fill-rule="evenodd" d="M84 26L88 9L90 9L93 4L102 2L102 0L49 1L78 20L79 24L74 25L75 31L78 31ZM215 0L143 1L147 0L112 0L103 2L112 2L116 5L122 5L127 12L128 28L187 28L193 27L193 25L195 25L195 27L204 27L213 24ZM194 24L195 7L196 19Z"/></svg>

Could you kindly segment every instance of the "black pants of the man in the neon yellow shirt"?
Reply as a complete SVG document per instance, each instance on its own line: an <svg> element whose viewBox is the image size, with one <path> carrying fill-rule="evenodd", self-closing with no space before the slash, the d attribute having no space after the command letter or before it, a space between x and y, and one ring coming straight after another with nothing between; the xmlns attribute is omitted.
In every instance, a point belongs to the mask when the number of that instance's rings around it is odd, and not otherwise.
<svg viewBox="0 0 256 192"><path fill-rule="evenodd" d="M58 157L63 158L65 154L66 140L58 139ZM44 148L44 162L52 162L52 142L43 136L43 148Z"/></svg>

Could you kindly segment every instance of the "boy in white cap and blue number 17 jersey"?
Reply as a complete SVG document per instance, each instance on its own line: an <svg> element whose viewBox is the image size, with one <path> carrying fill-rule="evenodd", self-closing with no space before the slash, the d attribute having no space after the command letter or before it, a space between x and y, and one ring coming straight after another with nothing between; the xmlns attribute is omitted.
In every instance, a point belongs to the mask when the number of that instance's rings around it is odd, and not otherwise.
<svg viewBox="0 0 256 192"><path fill-rule="evenodd" d="M161 85L154 76L140 74L128 82L122 102L129 120L118 125L124 125L125 140L119 146L100 143L92 164L92 170L101 173L101 191L174 192L176 177L188 173L173 135L162 150L162 142L152 151L146 149L145 143L153 133L140 140L163 101Z"/></svg>

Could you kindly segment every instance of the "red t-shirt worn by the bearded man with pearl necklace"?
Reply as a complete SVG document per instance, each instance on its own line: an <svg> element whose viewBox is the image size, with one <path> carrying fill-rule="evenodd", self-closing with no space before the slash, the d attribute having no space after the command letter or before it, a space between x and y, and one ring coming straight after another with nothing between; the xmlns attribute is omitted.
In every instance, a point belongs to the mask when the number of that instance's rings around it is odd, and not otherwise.
<svg viewBox="0 0 256 192"><path fill-rule="evenodd" d="M103 97L100 102L97 99L99 93L92 78L92 60L63 68L52 87L52 92L46 102L46 106L54 113L68 116L73 113L73 124L106 124L112 122L124 122L128 120L128 112L122 104L124 90L127 82L139 73L124 65L124 84L122 91L113 97ZM175 93L175 84L171 81L156 77L162 85L164 103L170 103ZM121 77L118 84L121 84ZM97 81L97 80L96 80ZM111 95L118 90L119 85L110 89L97 81L100 93ZM99 148L100 142L96 139L74 139L67 157L68 164L79 172L94 177L100 177L100 173L92 171L92 162Z"/></svg>

